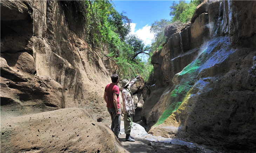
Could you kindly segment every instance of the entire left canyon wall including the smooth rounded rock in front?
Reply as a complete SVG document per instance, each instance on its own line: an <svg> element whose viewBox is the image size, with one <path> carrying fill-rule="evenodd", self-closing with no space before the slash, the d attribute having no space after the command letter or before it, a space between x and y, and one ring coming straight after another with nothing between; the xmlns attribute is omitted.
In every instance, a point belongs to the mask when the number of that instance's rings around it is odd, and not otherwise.
<svg viewBox="0 0 256 153"><path fill-rule="evenodd" d="M116 66L76 2L1 1L1 152L127 152L105 125Z"/></svg>

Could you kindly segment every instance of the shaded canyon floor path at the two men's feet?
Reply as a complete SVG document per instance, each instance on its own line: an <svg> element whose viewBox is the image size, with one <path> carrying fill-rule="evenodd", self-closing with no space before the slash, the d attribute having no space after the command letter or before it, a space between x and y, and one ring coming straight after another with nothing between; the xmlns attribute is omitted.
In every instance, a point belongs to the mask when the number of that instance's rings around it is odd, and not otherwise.
<svg viewBox="0 0 256 153"><path fill-rule="evenodd" d="M145 128L142 122L136 122ZM133 131L134 129L132 129ZM135 131L134 134L137 134ZM178 139L169 139L146 134L142 137L135 137L135 142L125 141L126 134L119 134L121 144L131 153L235 153L236 151L223 151L217 148L197 145ZM167 143L168 142L168 143ZM170 143L171 142L171 143Z"/></svg>

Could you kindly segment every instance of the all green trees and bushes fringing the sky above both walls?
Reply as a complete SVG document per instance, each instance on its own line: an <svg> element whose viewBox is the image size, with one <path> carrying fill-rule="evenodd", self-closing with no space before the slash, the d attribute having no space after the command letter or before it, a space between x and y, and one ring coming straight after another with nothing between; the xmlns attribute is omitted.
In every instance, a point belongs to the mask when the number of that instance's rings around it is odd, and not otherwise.
<svg viewBox="0 0 256 153"><path fill-rule="evenodd" d="M177 20L187 22L191 19L196 6L201 2L198 0L186 3L184 0L178 4L173 2L170 6L172 20L161 19L152 23L150 32L155 35L151 46L145 46L143 41L136 35L129 35L130 20L125 12L119 13L113 7L113 1L109 0L78 0L62 1L67 8L75 6L76 11L82 14L85 22L86 41L93 48L102 48L102 43L107 44L108 58L113 60L119 69L120 78L132 78L141 74L145 81L153 73L153 65L150 64L152 52L161 50L166 41L164 28ZM148 54L148 62L144 62L140 54Z"/></svg>

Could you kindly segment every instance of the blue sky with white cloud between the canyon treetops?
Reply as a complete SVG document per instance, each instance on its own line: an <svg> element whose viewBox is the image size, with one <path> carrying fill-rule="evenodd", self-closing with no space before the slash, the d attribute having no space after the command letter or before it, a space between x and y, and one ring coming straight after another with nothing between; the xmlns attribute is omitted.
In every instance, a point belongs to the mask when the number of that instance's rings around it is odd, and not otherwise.
<svg viewBox="0 0 256 153"><path fill-rule="evenodd" d="M171 0L113 0L117 12L126 12L132 20L131 34L136 34L143 42L151 44L154 34L150 33L151 24L161 19L170 20ZM178 1L176 1L178 3Z"/></svg>

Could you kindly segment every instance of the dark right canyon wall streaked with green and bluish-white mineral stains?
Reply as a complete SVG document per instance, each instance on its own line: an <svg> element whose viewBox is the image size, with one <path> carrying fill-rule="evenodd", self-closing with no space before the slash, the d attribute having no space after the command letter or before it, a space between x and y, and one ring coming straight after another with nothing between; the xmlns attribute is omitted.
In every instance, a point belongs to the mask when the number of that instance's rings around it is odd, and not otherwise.
<svg viewBox="0 0 256 153"><path fill-rule="evenodd" d="M214 1L186 28L189 50L178 45L179 34L169 38L171 45L157 53L162 63L154 65L169 83L156 85L151 94L162 91L159 100L147 99L142 110L149 133L228 149L255 147L255 8L256 1Z"/></svg>

